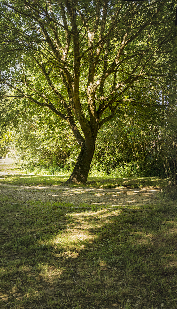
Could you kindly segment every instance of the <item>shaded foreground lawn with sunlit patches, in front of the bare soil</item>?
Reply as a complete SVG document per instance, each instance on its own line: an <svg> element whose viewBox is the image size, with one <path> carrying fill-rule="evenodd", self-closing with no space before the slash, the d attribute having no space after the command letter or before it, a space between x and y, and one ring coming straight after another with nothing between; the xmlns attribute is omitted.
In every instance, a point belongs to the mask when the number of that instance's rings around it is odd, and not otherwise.
<svg viewBox="0 0 177 309"><path fill-rule="evenodd" d="M1 205L1 308L176 308L177 206Z"/></svg>

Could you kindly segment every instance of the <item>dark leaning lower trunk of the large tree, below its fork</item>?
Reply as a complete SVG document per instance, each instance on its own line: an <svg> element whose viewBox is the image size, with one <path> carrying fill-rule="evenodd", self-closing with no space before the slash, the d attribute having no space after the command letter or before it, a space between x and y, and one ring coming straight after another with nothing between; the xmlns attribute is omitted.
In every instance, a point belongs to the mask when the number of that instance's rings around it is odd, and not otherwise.
<svg viewBox="0 0 177 309"><path fill-rule="evenodd" d="M72 174L65 184L86 183L94 151L95 145L93 141L84 143Z"/></svg>

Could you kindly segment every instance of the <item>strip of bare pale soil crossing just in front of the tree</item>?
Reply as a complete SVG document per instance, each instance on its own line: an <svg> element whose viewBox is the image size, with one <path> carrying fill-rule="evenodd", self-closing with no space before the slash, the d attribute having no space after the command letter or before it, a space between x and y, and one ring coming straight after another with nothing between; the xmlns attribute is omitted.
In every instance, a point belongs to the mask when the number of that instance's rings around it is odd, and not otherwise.
<svg viewBox="0 0 177 309"><path fill-rule="evenodd" d="M68 188L62 186L15 186L0 184L0 194L13 201L28 204L28 201L61 202L73 205L96 205L98 207L126 206L153 203L159 188Z"/></svg>

